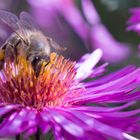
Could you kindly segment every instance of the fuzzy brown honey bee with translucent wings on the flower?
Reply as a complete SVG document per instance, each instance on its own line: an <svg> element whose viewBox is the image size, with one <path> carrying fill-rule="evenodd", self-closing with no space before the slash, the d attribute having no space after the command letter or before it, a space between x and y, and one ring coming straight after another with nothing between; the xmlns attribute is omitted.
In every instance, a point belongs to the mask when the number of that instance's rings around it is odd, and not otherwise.
<svg viewBox="0 0 140 140"><path fill-rule="evenodd" d="M45 36L27 12L21 12L18 18L11 12L0 10L0 20L13 30L0 48L0 69L6 59L13 61L18 55L25 55L38 71L40 62L49 61L52 51L64 49Z"/></svg>

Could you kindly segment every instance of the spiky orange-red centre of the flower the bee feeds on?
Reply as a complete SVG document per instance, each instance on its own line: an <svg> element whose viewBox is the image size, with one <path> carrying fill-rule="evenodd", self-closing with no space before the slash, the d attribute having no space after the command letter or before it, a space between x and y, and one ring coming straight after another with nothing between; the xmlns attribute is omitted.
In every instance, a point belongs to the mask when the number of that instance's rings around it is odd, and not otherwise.
<svg viewBox="0 0 140 140"><path fill-rule="evenodd" d="M42 62L38 75L24 56L18 56L0 71L0 100L37 109L61 106L68 93L76 92L75 75L75 63L56 53Z"/></svg>

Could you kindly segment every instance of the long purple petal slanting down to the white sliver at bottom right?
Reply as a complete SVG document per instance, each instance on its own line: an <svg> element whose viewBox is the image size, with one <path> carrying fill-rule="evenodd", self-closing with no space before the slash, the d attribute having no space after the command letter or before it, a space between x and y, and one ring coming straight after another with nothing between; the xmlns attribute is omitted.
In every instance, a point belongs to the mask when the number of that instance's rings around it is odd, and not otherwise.
<svg viewBox="0 0 140 140"><path fill-rule="evenodd" d="M63 112L63 110L64 110L64 112ZM75 122L75 120L77 120L77 121L79 120L82 123L84 123L86 125L85 127L83 126L85 128L85 133L86 133L86 129L87 129L88 131L93 131L93 132L98 131L102 134L105 134L107 136L111 136L114 138L118 138L118 139L123 138L122 132L119 129L110 127L106 124L103 124L103 123L99 122L98 120L87 116L84 113L81 113L78 111L70 111L70 110L64 109L64 108L61 108L60 110L58 110L58 113L59 113L59 111L61 111L61 114L64 113L63 116L65 115L65 118L68 116L69 117L71 116L70 119L73 122ZM55 113L56 112L57 111L55 111Z"/></svg>

